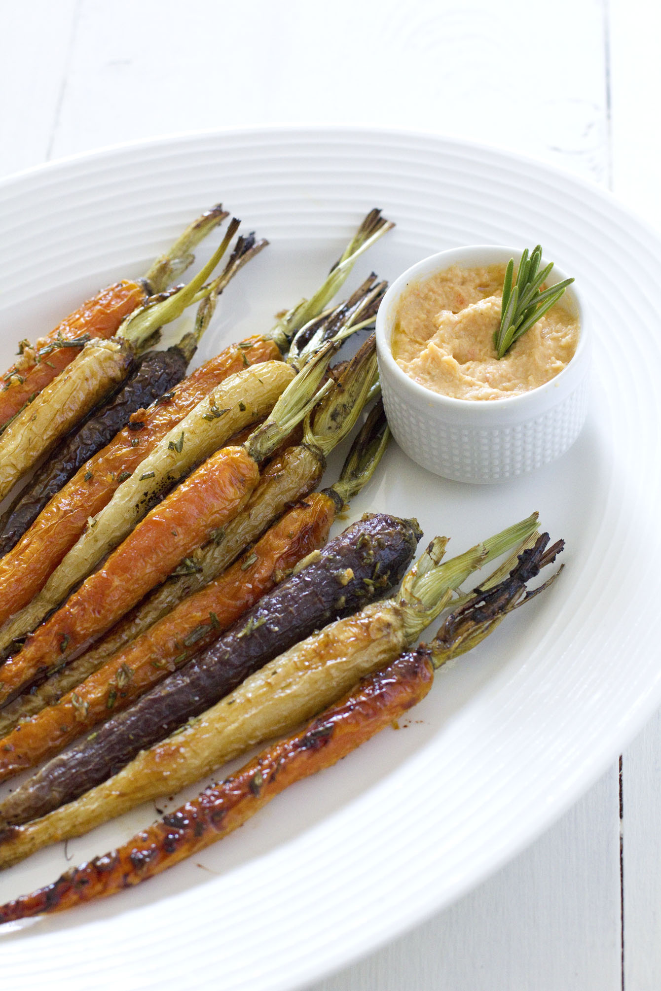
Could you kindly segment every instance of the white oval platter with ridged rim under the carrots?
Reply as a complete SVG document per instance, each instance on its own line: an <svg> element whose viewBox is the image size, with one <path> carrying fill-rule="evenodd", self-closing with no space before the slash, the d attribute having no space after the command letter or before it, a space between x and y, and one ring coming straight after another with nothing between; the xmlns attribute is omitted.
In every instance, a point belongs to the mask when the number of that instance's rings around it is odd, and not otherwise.
<svg viewBox="0 0 661 991"><path fill-rule="evenodd" d="M538 509L567 541L566 567L441 672L404 728L159 878L0 931L12 991L47 982L173 991L184 980L197 991L300 988L485 879L597 779L661 702L658 238L568 173L431 135L274 129L110 149L0 184L0 367L86 294L141 275L219 199L271 247L225 293L198 361L268 329L312 291L374 205L397 226L349 287L372 268L393 278L463 244L540 242L576 276L597 346L588 424L572 450L523 480L471 487L428 475L392 446L351 507L351 518L415 515L426 538L450 535L454 552ZM42 851L0 877L0 901L155 815L143 808Z"/></svg>

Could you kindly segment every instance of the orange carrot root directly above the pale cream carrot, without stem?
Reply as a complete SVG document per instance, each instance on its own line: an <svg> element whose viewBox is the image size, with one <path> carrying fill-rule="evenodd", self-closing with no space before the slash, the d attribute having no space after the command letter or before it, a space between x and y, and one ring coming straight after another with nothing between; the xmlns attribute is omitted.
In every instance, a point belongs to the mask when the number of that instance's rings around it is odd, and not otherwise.
<svg viewBox="0 0 661 991"><path fill-rule="evenodd" d="M0 560L0 623L27 606L43 589L84 531L88 518L108 504L124 478L212 388L249 365L280 359L273 341L261 336L248 338L242 346L225 348L149 409L134 413L129 425L85 462Z"/></svg>

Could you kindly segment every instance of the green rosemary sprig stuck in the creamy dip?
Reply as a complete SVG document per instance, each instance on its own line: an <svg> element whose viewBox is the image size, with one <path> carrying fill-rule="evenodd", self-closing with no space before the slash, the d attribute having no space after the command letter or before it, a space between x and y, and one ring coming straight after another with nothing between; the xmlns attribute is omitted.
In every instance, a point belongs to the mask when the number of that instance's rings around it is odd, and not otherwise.
<svg viewBox="0 0 661 991"><path fill-rule="evenodd" d="M500 326L494 334L494 347L498 359L503 358L514 341L525 334L526 330L530 330L533 323L558 302L567 286L574 281L573 278L565 278L542 292L540 286L550 275L553 262L549 262L540 272L541 260L541 245L533 248L530 256L526 248L521 255L515 282L513 282L513 258L507 263L502 284Z"/></svg>

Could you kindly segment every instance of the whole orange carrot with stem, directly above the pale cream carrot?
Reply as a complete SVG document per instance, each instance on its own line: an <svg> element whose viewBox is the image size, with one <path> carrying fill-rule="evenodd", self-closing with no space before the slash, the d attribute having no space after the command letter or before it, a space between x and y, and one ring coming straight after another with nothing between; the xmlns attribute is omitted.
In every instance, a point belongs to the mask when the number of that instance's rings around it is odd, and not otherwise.
<svg viewBox="0 0 661 991"><path fill-rule="evenodd" d="M251 364L279 360L280 347L275 341L286 348L290 338L323 309L359 255L391 226L379 211L368 214L323 285L309 301L301 300L278 321L271 335L258 335L226 348L174 388L171 395L164 396L144 413L134 414L129 426L82 466L18 544L0 560L0 623L6 624L0 630L0 651L6 654L12 640L34 628L41 618L29 613L7 623L10 616L27 606L44 588L82 534L87 519L107 505L121 483L135 472L165 434L232 373Z"/></svg>

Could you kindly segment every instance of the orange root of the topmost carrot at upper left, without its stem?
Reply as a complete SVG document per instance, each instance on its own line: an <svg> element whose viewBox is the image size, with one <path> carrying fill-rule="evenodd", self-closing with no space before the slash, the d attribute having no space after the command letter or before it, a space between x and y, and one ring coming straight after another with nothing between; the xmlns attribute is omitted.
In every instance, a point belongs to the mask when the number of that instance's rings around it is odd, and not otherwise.
<svg viewBox="0 0 661 991"><path fill-rule="evenodd" d="M126 316L147 298L145 286L140 282L123 279L101 289L87 299L78 309L61 321L55 330L37 341L37 350L53 345L58 339L74 341L89 337L112 337ZM26 348L18 362L2 377L0 385L0 427L53 382L55 376L66 368L78 354L77 348L55 348L48 357L37 361L35 349Z"/></svg>

